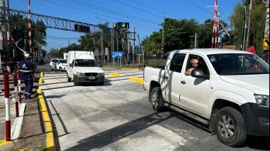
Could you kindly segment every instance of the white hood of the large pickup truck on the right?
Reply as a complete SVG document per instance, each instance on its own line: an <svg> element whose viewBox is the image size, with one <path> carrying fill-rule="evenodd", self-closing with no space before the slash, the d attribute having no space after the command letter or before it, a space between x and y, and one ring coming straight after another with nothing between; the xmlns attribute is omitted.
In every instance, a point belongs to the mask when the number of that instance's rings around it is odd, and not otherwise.
<svg viewBox="0 0 270 151"><path fill-rule="evenodd" d="M261 75L220 75L227 83L252 90L257 94L269 95L269 74Z"/></svg>

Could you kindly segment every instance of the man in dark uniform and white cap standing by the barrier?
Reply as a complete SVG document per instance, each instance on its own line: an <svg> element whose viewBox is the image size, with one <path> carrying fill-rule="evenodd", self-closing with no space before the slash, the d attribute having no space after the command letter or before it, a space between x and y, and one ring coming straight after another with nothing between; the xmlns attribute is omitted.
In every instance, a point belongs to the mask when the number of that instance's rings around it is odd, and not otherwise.
<svg viewBox="0 0 270 151"><path fill-rule="evenodd" d="M26 100L33 99L31 98L31 95L33 90L33 80L35 80L34 71L35 68L33 66L33 63L31 63L31 56L26 53L24 55L24 60L20 62L21 80L24 80L24 97L26 98Z"/></svg>

